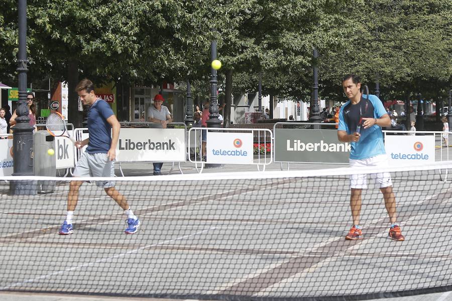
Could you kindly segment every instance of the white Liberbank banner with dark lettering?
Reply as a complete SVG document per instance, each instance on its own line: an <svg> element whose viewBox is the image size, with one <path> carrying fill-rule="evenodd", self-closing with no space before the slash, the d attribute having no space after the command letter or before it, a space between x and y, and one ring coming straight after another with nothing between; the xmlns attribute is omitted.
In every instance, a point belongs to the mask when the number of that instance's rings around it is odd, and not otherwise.
<svg viewBox="0 0 452 301"><path fill-rule="evenodd" d="M185 161L185 128L121 128L117 162Z"/></svg>

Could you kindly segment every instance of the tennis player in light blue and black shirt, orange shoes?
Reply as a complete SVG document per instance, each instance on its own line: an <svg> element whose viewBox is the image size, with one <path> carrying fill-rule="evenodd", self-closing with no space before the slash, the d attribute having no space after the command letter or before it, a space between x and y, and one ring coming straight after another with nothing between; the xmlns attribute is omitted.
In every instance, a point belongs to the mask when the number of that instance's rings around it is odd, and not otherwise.
<svg viewBox="0 0 452 301"><path fill-rule="evenodd" d="M391 119L381 100L376 95L361 93L361 79L349 74L342 80L344 93L349 101L339 111L337 138L342 142L351 142L351 167L387 167L381 126L390 126ZM368 96L368 97L367 97ZM405 240L400 227L396 223L396 201L392 190L389 173L375 174L380 191L385 199L386 210L391 223L389 237L394 240ZM352 209L353 226L346 239L362 239L360 226L361 193L367 188L367 175L350 176L350 207Z"/></svg>

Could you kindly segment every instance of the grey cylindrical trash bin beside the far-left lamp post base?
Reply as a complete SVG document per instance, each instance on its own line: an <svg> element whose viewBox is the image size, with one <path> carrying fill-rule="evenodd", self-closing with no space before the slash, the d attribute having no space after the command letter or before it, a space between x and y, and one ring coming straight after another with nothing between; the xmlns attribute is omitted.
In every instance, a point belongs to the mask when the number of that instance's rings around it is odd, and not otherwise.
<svg viewBox="0 0 452 301"><path fill-rule="evenodd" d="M35 176L56 176L55 155L51 156L47 151L55 150L55 137L47 130L39 130L34 133L34 159L33 169ZM52 193L55 191L55 181L38 181L38 193Z"/></svg>

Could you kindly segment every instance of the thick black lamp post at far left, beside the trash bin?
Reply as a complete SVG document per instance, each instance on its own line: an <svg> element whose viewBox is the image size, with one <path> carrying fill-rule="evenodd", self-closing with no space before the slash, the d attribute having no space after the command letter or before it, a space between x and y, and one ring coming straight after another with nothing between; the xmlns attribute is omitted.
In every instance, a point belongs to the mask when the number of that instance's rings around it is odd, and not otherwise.
<svg viewBox="0 0 452 301"><path fill-rule="evenodd" d="M33 176L33 129L29 124L27 106L27 0L19 0L19 101L16 108L16 125L13 127L14 172L13 176ZM35 195L36 181L11 181L10 194Z"/></svg>

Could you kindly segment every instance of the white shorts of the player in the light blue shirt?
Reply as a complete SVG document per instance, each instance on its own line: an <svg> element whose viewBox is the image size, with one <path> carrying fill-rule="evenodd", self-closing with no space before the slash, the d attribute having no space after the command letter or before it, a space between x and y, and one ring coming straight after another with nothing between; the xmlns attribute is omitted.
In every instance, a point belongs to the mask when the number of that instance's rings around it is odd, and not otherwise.
<svg viewBox="0 0 452 301"><path fill-rule="evenodd" d="M378 155L375 157L363 159L363 160L349 160L350 167L388 167L388 157L385 155ZM367 176L351 175L350 176L350 188L365 189L367 188ZM390 173L371 174L371 178L376 178L377 183L380 184L380 188L392 186Z"/></svg>

